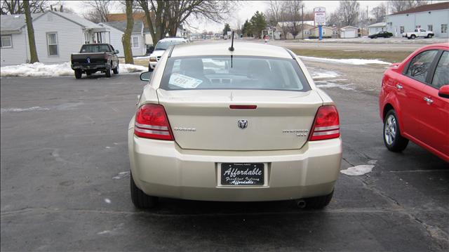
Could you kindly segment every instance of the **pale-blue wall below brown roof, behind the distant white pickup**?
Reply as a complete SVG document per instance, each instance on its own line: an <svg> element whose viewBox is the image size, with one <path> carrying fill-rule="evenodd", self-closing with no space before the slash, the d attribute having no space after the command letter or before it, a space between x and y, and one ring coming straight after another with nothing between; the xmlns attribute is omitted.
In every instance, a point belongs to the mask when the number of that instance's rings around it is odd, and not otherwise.
<svg viewBox="0 0 449 252"><path fill-rule="evenodd" d="M449 10L387 16L387 31L396 37L402 36L401 26L404 27L404 32L413 32L417 25L420 25L425 30L427 30L427 25L432 25L435 37L449 37L449 33L441 34L441 24L449 26Z"/></svg>

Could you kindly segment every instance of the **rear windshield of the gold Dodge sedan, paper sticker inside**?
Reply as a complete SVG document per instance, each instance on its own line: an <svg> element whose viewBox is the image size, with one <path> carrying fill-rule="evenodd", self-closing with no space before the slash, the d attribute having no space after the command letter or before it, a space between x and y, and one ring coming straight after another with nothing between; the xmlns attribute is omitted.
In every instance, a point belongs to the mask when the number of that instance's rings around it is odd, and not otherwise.
<svg viewBox="0 0 449 252"><path fill-rule="evenodd" d="M250 56L168 58L160 87L164 90L310 90L295 60Z"/></svg>

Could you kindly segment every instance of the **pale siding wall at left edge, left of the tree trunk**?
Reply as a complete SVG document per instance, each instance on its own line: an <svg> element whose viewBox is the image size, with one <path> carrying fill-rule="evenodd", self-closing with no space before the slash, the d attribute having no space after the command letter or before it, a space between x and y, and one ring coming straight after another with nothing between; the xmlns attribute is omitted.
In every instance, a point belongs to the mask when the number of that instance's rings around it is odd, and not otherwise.
<svg viewBox="0 0 449 252"><path fill-rule="evenodd" d="M22 30L20 34L11 34L12 48L1 48L0 51L0 65L18 65L29 60L29 53L27 50L28 41L26 30Z"/></svg>

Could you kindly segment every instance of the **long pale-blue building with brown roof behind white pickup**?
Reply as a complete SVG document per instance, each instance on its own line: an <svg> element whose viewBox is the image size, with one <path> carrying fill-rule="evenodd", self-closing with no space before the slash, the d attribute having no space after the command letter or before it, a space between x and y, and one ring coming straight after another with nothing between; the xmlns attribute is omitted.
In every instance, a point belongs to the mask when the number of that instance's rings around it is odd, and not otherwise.
<svg viewBox="0 0 449 252"><path fill-rule="evenodd" d="M421 28L432 31L435 37L447 38L449 25L449 2L427 4L406 11L387 15L387 32L401 37L403 32Z"/></svg>

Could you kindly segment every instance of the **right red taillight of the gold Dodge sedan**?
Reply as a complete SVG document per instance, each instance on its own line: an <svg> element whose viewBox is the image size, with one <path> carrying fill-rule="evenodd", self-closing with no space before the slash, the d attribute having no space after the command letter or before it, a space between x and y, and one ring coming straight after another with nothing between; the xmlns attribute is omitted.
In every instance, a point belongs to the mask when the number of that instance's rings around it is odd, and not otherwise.
<svg viewBox="0 0 449 252"><path fill-rule="evenodd" d="M326 140L340 137L340 119L334 105L321 106L316 112L309 141Z"/></svg>

